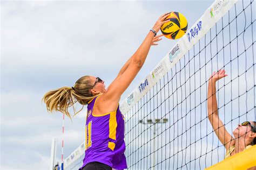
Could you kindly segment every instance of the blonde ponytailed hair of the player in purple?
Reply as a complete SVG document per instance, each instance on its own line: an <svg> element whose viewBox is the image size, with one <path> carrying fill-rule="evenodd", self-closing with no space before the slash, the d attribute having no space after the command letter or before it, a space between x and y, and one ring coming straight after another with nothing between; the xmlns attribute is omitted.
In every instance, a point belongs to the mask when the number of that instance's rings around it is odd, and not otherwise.
<svg viewBox="0 0 256 170"><path fill-rule="evenodd" d="M76 102L83 105L88 104L96 96L92 95L91 89L93 88L93 82L90 76L83 76L77 80L74 87L62 87L55 90L48 91L42 99L46 104L46 108L49 112L60 111L71 119L71 115L68 111L70 107ZM76 111L73 107L74 116L78 114L82 109Z"/></svg>

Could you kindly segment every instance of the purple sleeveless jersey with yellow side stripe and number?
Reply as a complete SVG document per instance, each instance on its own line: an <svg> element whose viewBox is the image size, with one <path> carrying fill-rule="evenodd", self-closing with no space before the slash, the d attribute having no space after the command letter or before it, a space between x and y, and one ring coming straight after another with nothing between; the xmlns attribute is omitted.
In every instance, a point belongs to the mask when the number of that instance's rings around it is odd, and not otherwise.
<svg viewBox="0 0 256 170"><path fill-rule="evenodd" d="M94 98L87 105L85 125L85 158L82 169L89 162L101 162L114 169L127 168L124 155L124 116L119 110L93 115Z"/></svg>

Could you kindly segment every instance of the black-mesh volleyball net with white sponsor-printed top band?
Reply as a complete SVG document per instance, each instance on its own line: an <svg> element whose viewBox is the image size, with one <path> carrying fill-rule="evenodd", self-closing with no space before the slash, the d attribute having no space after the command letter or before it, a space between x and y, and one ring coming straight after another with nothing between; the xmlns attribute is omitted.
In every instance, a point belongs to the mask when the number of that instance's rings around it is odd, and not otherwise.
<svg viewBox="0 0 256 170"><path fill-rule="evenodd" d="M226 154L207 117L207 83L216 83L218 112L232 134L255 121L255 2L217 0L120 104L129 169L204 169ZM83 164L84 145L64 161Z"/></svg>

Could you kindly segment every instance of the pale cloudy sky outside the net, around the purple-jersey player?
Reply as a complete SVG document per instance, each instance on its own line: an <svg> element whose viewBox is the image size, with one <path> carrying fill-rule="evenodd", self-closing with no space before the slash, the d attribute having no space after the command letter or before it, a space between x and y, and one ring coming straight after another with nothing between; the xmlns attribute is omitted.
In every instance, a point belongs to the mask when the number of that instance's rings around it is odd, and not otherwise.
<svg viewBox="0 0 256 170"><path fill-rule="evenodd" d="M213 1L1 1L1 169L46 169L51 139L60 158L62 115L43 95L95 75L106 86L157 18L179 11L191 27ZM153 46L122 100L177 40ZM64 157L84 140L84 113L65 120Z"/></svg>

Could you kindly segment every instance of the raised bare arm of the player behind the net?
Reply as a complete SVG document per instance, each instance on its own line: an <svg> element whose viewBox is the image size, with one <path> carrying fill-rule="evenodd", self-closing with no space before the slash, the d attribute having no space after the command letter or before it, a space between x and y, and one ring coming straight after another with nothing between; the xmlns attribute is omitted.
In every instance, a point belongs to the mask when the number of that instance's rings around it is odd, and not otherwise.
<svg viewBox="0 0 256 170"><path fill-rule="evenodd" d="M219 70L217 73L213 72L208 82L208 95L207 95L207 110L208 119L212 124L212 128L219 138L220 142L225 146L226 150L233 144L230 133L227 132L223 122L219 119L218 115L218 104L216 99L216 82L227 76L225 70Z"/></svg>

